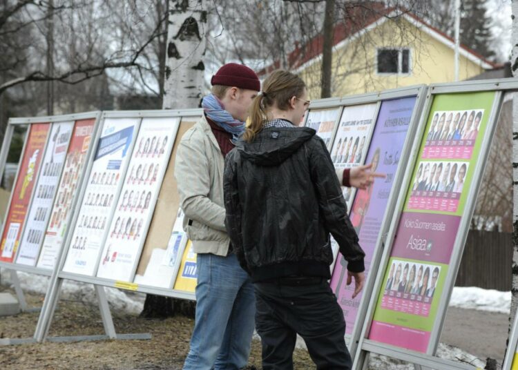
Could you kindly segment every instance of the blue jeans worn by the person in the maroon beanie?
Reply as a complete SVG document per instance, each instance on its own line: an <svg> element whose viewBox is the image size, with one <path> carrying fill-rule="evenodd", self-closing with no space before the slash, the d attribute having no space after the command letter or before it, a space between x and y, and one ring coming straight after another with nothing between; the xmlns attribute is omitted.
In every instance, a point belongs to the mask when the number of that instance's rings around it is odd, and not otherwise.
<svg viewBox="0 0 518 370"><path fill-rule="evenodd" d="M200 253L196 317L184 370L241 369L255 326L253 284L236 255Z"/></svg>

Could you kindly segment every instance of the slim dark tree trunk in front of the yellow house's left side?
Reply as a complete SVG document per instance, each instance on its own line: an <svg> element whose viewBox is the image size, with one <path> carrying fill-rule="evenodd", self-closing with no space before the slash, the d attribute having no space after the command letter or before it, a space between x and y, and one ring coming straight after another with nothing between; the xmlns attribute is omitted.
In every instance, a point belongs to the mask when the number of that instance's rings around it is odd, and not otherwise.
<svg viewBox="0 0 518 370"><path fill-rule="evenodd" d="M335 0L325 1L324 42L322 50L322 90L320 97L331 97Z"/></svg>

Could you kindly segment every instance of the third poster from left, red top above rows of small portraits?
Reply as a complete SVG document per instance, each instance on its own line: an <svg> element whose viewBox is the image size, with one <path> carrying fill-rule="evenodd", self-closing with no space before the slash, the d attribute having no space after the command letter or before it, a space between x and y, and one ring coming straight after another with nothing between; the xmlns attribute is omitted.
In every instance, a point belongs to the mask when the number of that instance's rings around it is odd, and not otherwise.
<svg viewBox="0 0 518 370"><path fill-rule="evenodd" d="M50 223L47 226L38 257L37 267L39 269L54 269L59 252L63 247L65 233L72 217L73 199L79 190L81 173L86 166L94 126L95 119L81 119L75 122L63 175L59 182L59 190L50 213Z"/></svg>

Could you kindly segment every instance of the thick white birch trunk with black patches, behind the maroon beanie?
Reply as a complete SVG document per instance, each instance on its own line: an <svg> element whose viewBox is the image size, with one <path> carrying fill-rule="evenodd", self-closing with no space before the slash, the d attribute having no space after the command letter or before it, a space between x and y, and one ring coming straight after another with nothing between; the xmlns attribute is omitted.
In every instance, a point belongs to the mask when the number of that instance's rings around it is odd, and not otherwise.
<svg viewBox="0 0 518 370"><path fill-rule="evenodd" d="M205 0L169 0L164 109L198 107L204 81L205 32Z"/></svg>

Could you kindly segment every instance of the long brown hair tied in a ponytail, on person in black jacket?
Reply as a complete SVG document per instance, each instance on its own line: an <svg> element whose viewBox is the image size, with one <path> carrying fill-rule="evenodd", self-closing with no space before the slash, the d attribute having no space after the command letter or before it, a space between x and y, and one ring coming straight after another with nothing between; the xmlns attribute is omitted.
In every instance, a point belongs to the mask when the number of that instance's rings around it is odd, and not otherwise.
<svg viewBox="0 0 518 370"><path fill-rule="evenodd" d="M262 94L253 100L250 124L244 131L243 139L251 142L262 130L267 120L267 108L274 104L280 110L288 110L291 97L301 97L306 84L300 77L287 70L275 70L262 83Z"/></svg>

